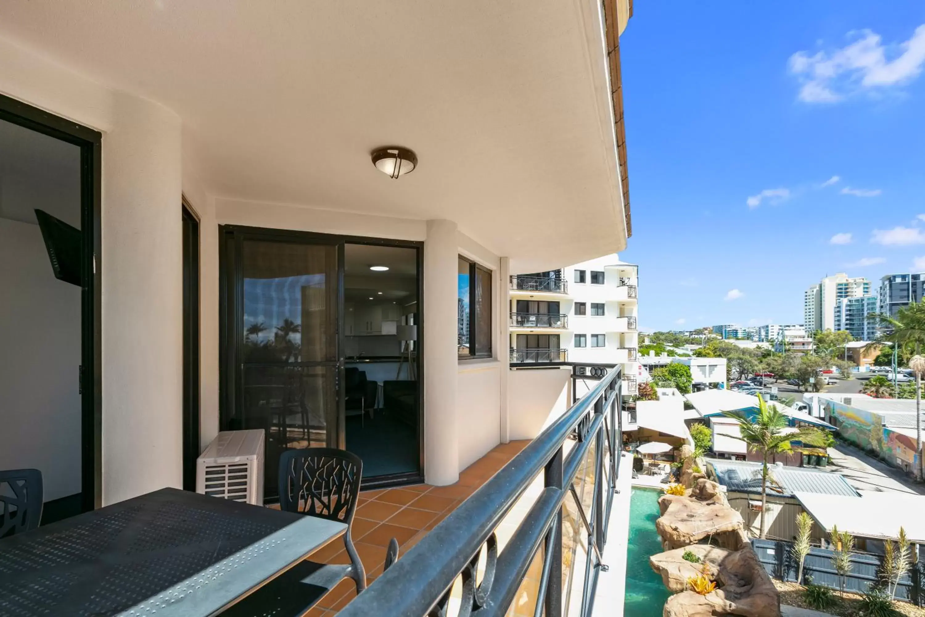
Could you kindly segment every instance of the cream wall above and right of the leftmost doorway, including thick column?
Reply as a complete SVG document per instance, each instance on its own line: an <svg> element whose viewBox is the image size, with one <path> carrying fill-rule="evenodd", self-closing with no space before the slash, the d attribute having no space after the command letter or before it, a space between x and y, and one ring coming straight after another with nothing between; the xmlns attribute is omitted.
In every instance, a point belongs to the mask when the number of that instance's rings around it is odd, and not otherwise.
<svg viewBox="0 0 925 617"><path fill-rule="evenodd" d="M179 117L0 40L0 93L103 132L103 501L181 484Z"/></svg>

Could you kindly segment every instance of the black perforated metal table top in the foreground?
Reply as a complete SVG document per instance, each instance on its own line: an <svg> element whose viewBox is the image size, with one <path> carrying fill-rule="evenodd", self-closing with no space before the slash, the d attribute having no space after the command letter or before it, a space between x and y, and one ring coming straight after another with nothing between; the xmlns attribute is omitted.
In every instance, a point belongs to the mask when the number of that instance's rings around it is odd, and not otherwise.
<svg viewBox="0 0 925 617"><path fill-rule="evenodd" d="M162 488L0 540L0 615L214 615L346 529Z"/></svg>

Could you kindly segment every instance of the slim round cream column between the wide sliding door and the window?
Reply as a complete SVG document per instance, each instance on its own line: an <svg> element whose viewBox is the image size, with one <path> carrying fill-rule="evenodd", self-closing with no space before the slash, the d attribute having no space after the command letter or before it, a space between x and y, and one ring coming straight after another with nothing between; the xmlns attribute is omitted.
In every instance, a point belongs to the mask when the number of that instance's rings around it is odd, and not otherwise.
<svg viewBox="0 0 925 617"><path fill-rule="evenodd" d="M425 481L437 486L459 480L456 230L452 221L427 221L424 241L424 465Z"/></svg>

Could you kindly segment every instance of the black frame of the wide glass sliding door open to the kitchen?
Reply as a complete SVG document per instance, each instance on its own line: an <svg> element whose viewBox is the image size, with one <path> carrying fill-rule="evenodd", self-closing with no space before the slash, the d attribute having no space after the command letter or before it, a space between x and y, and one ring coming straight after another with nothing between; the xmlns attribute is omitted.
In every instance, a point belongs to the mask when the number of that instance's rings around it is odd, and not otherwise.
<svg viewBox="0 0 925 617"><path fill-rule="evenodd" d="M240 401L240 380L235 376L238 373L237 360L240 357L240 351L234 349L236 345L233 341L240 341L242 333L240 324L242 315L239 302L234 302L234 306L228 305L230 290L236 294L238 281L240 281L240 264L235 262L235 253L237 253L236 242L240 241L243 236L250 238L276 240L276 241L314 241L328 242L338 245L338 358L339 358L339 378L338 378L338 403L339 403L339 425L343 423L343 383L344 383L344 254L343 249L346 244L367 244L374 246L392 246L398 248L413 248L417 253L417 341L415 349L418 354L417 364L417 413L418 413L418 471L405 474L377 475L374 478L363 479L364 488L374 487L393 487L408 484L418 484L424 481L425 457L424 457L424 436L425 436L425 413L424 413L424 375L425 375L425 332L424 332L424 242L422 241L405 241L393 240L389 238L369 238L365 236L343 236L337 234L318 233L314 231L298 231L292 229L276 228L256 228L243 225L219 225L218 226L218 272L219 272L219 291L218 291L218 327L219 327L219 364L218 364L218 418L219 430L228 430L228 423L231 420L230 410L234 408L235 402ZM240 297L236 295L236 297ZM230 315L234 310L235 315ZM229 324L229 317L234 323ZM233 338L232 338L233 337ZM344 426L338 426L339 438L345 438Z"/></svg>

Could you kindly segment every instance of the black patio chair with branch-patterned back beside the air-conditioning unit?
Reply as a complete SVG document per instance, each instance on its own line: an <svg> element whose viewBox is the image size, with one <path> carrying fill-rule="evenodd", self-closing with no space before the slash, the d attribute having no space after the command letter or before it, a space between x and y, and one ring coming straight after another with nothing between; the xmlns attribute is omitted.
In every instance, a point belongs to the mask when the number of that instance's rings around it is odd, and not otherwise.
<svg viewBox="0 0 925 617"><path fill-rule="evenodd" d="M302 615L345 578L353 580L357 593L362 592L366 573L351 537L362 477L363 461L346 450L305 448L283 452L279 456L279 509L346 523L343 541L351 562L300 561L222 615ZM397 555L397 543L395 549Z"/></svg>

